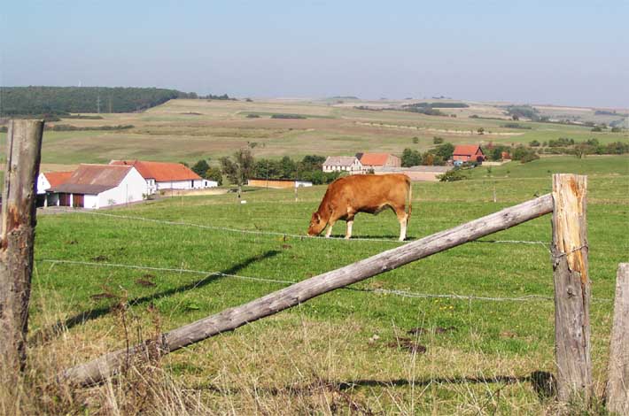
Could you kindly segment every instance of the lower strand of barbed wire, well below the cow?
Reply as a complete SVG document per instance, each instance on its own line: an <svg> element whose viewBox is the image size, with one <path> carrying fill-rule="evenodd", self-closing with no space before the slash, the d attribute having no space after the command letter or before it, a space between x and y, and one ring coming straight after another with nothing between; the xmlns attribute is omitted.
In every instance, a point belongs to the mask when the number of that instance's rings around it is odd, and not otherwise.
<svg viewBox="0 0 629 416"><path fill-rule="evenodd" d="M232 277L232 278L248 280L248 281L264 281L264 282L269 282L269 283L279 283L283 285L291 285L291 284L298 283L298 281L285 281L285 280L279 280L279 279L270 279L266 277L243 276L240 274L208 272L208 271L203 271L203 270L191 270L191 269L184 269L184 268L138 266L138 265L126 265L126 264L120 264L120 263L104 263L104 262L96 263L96 262L88 262L88 261L50 259L50 258L43 258L37 261L51 263L51 264L66 264L66 265L75 265L75 266L120 267L120 268L136 269L136 270L151 270L151 271L160 271L160 272L169 272L169 273L195 273L195 274L204 274L206 276L217 275L217 276ZM377 293L381 295L393 295L393 296L398 296L398 297L445 298L445 299L454 299L454 300L480 300L480 301L491 301L491 302L532 302L532 301L553 301L555 299L554 297L547 297L544 295L537 295L537 294L526 295L523 297L481 297L481 296L476 296L476 295L460 295L456 293L453 293L453 294L416 293L416 292L409 292L407 290L399 290L399 289L369 289L369 288L342 288L342 289ZM613 299L593 297L592 300L602 301L602 302L611 302Z"/></svg>

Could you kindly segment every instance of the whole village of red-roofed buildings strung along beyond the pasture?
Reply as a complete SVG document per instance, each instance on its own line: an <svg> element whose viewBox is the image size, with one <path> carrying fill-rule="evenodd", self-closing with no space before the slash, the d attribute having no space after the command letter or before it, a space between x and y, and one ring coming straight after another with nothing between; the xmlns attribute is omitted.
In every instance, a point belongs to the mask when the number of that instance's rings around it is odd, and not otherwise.
<svg viewBox="0 0 629 416"><path fill-rule="evenodd" d="M402 167L401 158L390 153L357 153L329 156L323 173L386 174L404 173L411 181L438 181L439 175L454 166L482 163L480 145L458 145L447 166ZM300 188L311 181L249 179L247 185L266 188ZM72 172L40 173L37 180L37 206L64 206L99 209L150 199L168 191L193 191L218 187L217 181L202 178L181 163L142 160L112 160L109 164L82 164Z"/></svg>

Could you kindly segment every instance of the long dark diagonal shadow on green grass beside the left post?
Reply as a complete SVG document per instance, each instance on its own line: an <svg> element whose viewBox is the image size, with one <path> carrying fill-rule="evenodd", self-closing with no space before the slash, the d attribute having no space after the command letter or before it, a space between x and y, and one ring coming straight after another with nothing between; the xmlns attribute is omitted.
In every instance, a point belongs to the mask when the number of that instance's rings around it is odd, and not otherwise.
<svg viewBox="0 0 629 416"><path fill-rule="evenodd" d="M272 258L280 253L281 251L278 251L278 250L268 250L267 252L263 254L253 256L251 258L247 258L244 261L241 261L240 263L237 263L236 265L229 267L228 269L222 270L221 272L210 274L201 280L192 281L190 283L184 284L177 288L163 290L158 293L153 293L152 295L128 299L127 303L129 305L146 304L162 297L169 297L172 295L176 295L178 293L186 292L188 290L203 288L204 286L225 277L225 276L222 276L221 273L236 274L240 270L244 269L247 266L252 265L253 263L257 263L267 258ZM63 332L65 329L70 329L71 327L82 324L88 320L95 320L103 315L113 312L113 310L119 304L120 303L116 303L116 304L111 304L107 306L102 306L96 309L90 309L89 311L79 312L75 314L74 316L67 318L66 320L58 321L52 327L43 328L37 333L35 333L35 335L33 335L34 342L43 343L46 340L50 339L50 337L61 334L61 332Z"/></svg>

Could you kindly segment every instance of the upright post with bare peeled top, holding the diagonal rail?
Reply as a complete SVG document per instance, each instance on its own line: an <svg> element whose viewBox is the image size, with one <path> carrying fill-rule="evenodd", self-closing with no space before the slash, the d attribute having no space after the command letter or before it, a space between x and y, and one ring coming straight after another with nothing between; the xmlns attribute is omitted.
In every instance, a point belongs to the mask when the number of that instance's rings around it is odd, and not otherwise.
<svg viewBox="0 0 629 416"><path fill-rule="evenodd" d="M563 403L576 399L589 404L592 360L586 176L554 174L553 199L557 396Z"/></svg>

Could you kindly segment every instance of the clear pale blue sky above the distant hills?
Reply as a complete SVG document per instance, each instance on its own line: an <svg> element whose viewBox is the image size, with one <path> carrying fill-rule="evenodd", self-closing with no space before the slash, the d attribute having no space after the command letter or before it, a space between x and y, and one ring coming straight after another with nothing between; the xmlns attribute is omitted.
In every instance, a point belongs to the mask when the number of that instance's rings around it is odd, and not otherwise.
<svg viewBox="0 0 629 416"><path fill-rule="evenodd" d="M28 1L0 84L629 107L629 1Z"/></svg>

